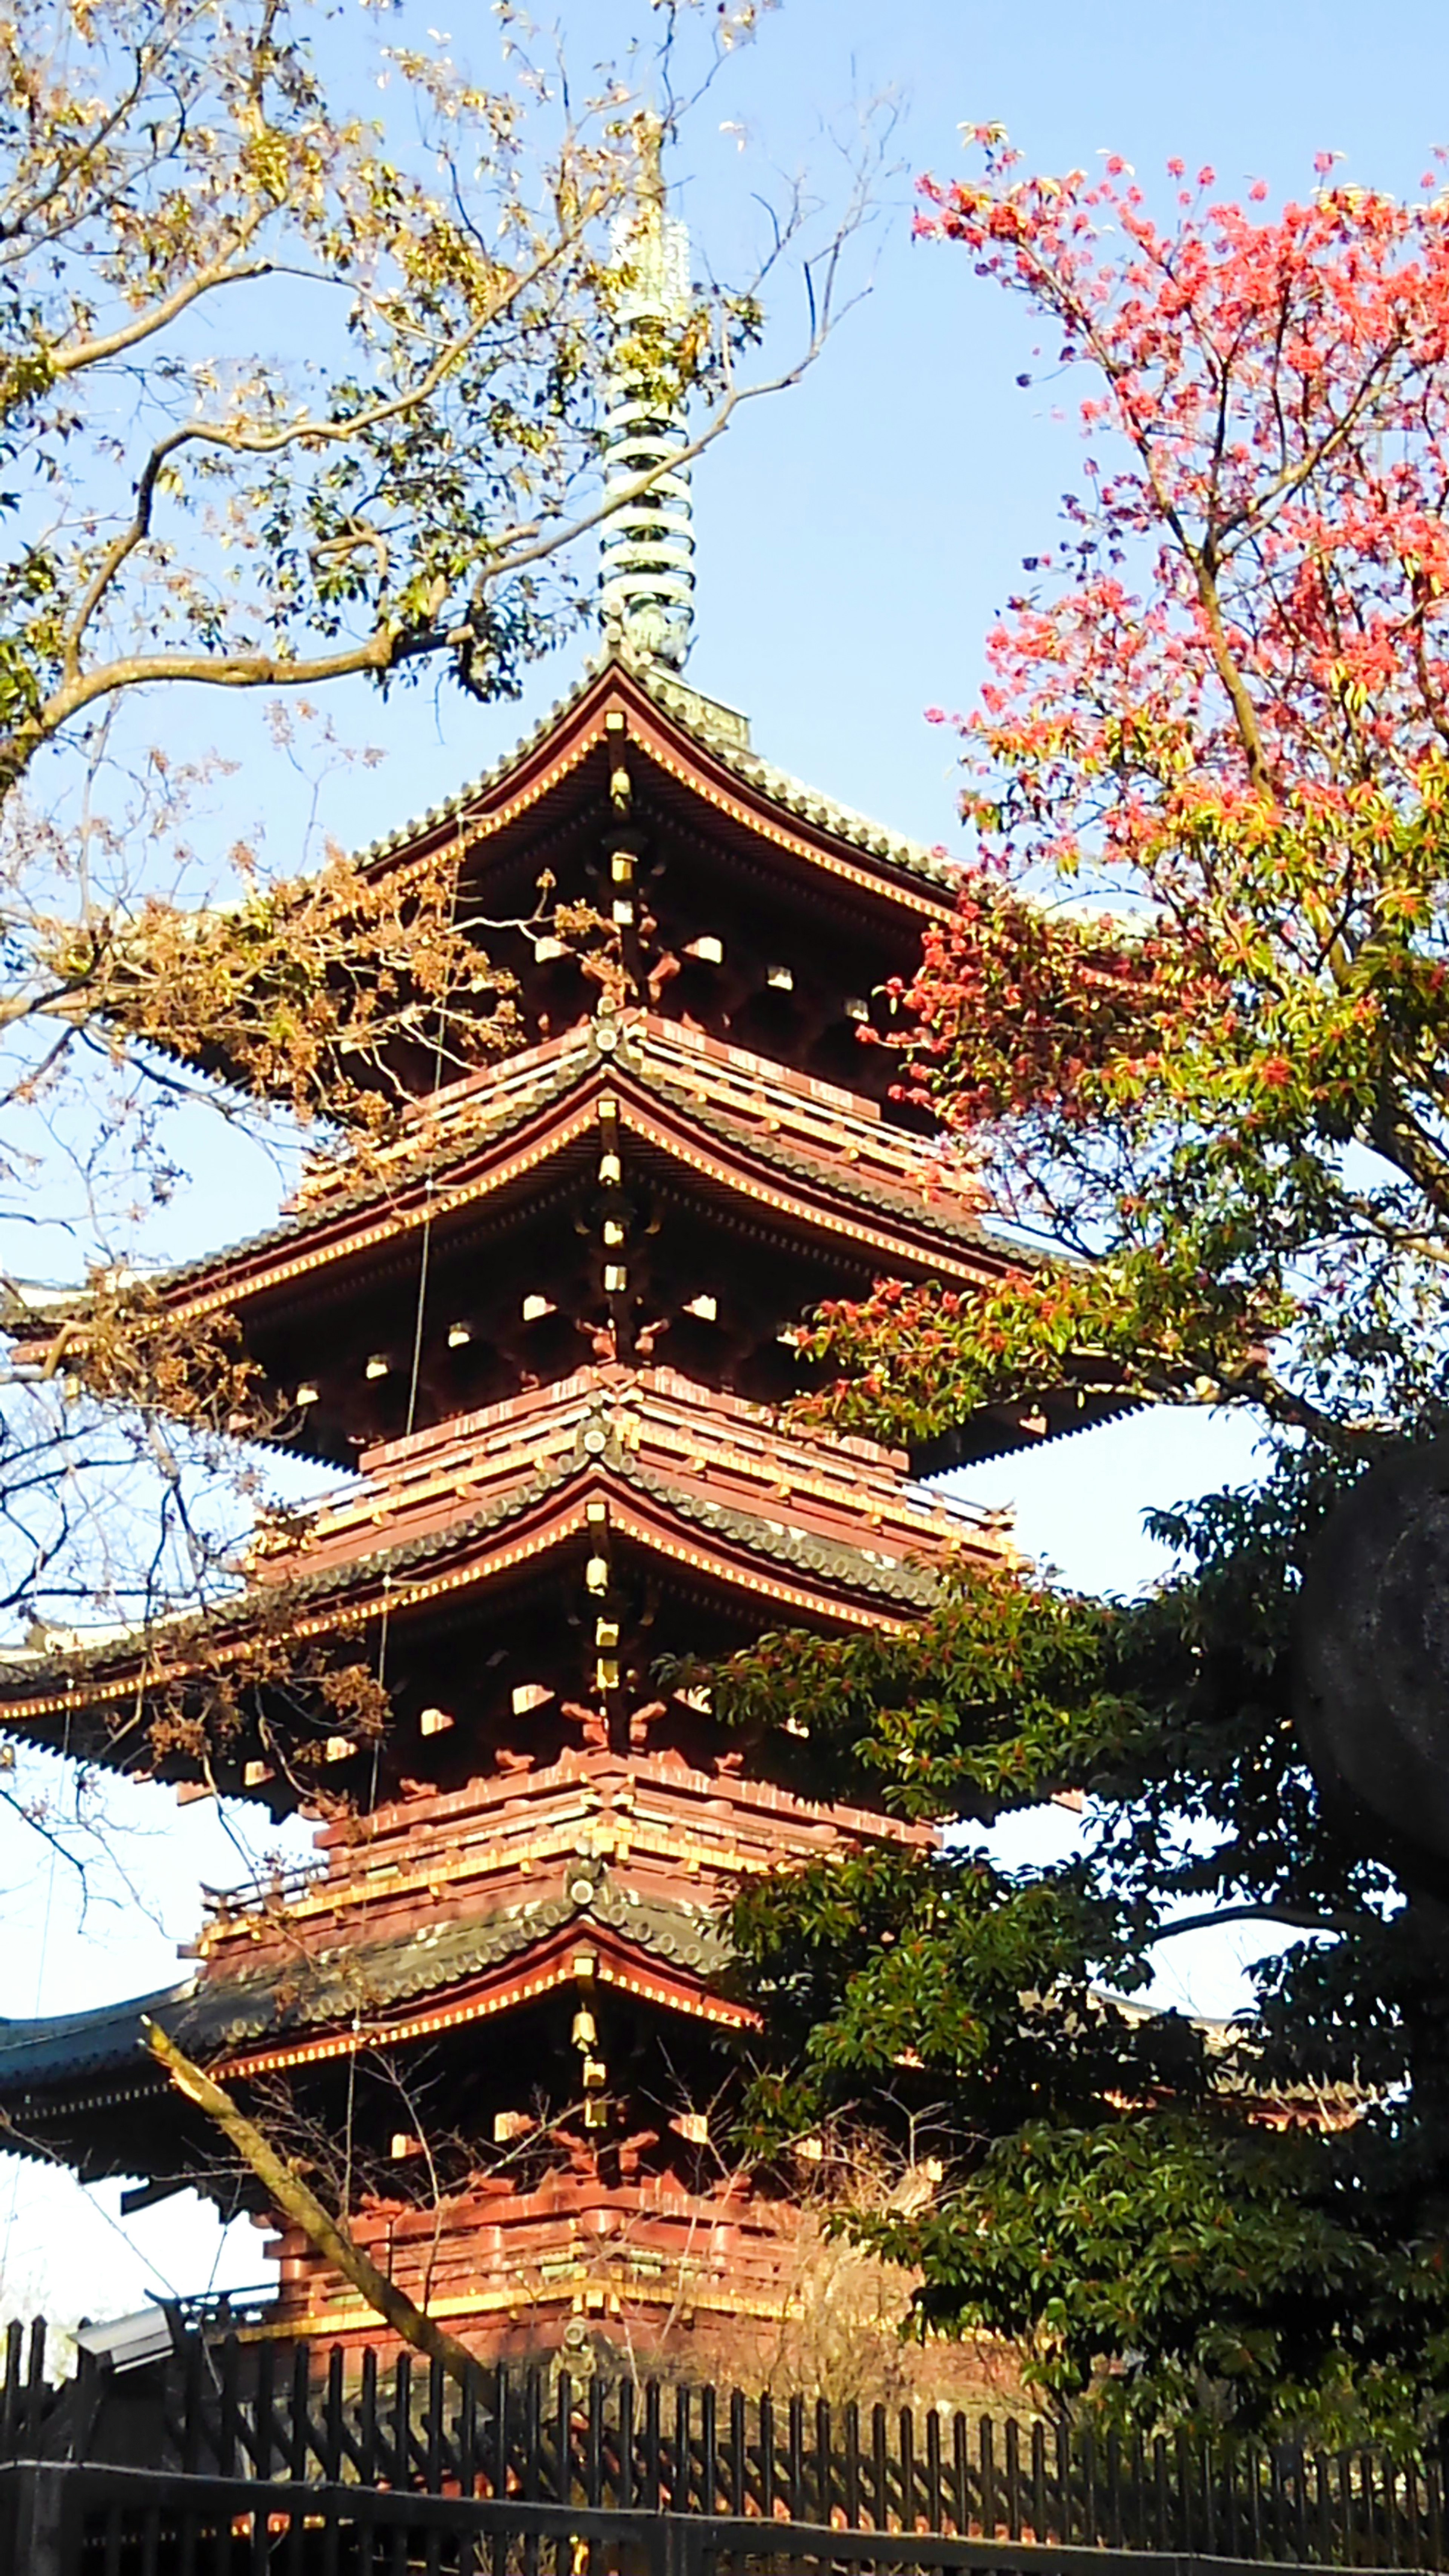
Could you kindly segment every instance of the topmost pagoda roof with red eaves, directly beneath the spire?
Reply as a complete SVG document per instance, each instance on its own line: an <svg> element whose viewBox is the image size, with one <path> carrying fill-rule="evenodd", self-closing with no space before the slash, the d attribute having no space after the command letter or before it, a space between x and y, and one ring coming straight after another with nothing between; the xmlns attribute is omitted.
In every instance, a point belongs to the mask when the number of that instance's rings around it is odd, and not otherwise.
<svg viewBox="0 0 1449 2576"><path fill-rule="evenodd" d="M895 891L897 902L905 899L920 914L951 909L959 871L944 850L905 840L763 760L750 747L745 716L619 641L590 659L575 688L492 768L369 842L356 863L369 873L387 873L459 835L472 848L503 832L544 806L603 739L608 711L627 714L629 742L657 770L701 791L730 819L861 891Z"/></svg>

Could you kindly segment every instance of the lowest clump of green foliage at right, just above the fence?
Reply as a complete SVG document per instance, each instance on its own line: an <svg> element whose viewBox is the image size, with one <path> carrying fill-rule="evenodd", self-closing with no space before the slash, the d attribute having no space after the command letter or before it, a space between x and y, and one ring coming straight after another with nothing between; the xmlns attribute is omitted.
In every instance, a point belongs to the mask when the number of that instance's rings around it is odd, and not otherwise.
<svg viewBox="0 0 1449 2576"><path fill-rule="evenodd" d="M864 2233L923 2269L923 2326L1021 2336L1057 2396L1083 2388L1083 2354L1122 2360L1098 2396L1109 2421L1266 2414L1392 2445L1449 2362L1441 2249L1385 2249L1348 2161L1204 2105L1091 2128L1026 2120L964 2195Z"/></svg>

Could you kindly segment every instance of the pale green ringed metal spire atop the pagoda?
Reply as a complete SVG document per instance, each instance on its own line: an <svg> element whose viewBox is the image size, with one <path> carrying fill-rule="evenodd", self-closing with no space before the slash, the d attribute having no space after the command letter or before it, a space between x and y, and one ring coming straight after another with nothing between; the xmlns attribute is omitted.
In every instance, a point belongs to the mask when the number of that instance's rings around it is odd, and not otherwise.
<svg viewBox="0 0 1449 2576"><path fill-rule="evenodd" d="M663 126L642 118L637 204L614 224L624 270L619 325L603 410L603 623L668 670L681 670L694 639L694 495L683 404L660 389L657 343L688 314L688 232L668 214ZM647 492L629 495L639 474Z"/></svg>

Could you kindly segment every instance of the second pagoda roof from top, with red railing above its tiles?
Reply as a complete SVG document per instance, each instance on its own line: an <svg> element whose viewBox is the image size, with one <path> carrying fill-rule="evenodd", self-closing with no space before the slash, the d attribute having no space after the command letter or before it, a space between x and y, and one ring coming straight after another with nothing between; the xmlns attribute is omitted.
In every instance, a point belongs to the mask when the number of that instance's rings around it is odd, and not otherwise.
<svg viewBox="0 0 1449 2576"><path fill-rule="evenodd" d="M162 1273L155 1293L180 1321L260 1301L294 1309L309 1283L353 1262L389 1265L423 1229L485 1221L511 1193L529 1195L544 1167L562 1170L567 1157L590 1167L601 1105L614 1108L627 1141L686 1170L701 1203L743 1200L753 1221L846 1244L869 1273L990 1285L1039 1260L982 1221L969 1172L874 1103L652 1012L624 1012L449 1084L361 1172L317 1167L284 1218ZM75 1365L83 1316L80 1298L36 1293L26 1303L10 1291L18 1358L49 1350L75 1319ZM1073 1365L1060 1391L985 1409L969 1440L923 1463L1083 1430L1129 1401L1106 1363Z"/></svg>

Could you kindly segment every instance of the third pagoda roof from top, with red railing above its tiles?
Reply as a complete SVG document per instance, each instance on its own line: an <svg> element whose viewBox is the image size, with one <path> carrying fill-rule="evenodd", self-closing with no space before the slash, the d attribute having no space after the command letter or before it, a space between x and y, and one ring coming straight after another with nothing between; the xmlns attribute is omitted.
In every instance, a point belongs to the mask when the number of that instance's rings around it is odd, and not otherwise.
<svg viewBox="0 0 1449 2576"><path fill-rule="evenodd" d="M240 1669L253 1638L340 1636L536 1564L588 1530L606 1499L616 1538L771 1615L825 1628L895 1628L938 1595L957 1556L1000 1558L990 1512L910 1486L902 1453L810 1440L673 1370L585 1368L364 1453L364 1479L258 1543L248 1592L201 1620L157 1623L85 1651L0 1662L5 1726L54 1736L98 1718L72 1752L119 1757L137 1739L147 1680ZM124 1710L108 1731L103 1710ZM186 1770L186 1762L180 1770ZM142 1765L144 1767L144 1765Z"/></svg>

